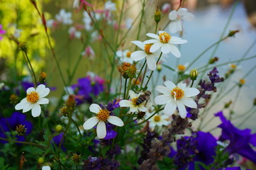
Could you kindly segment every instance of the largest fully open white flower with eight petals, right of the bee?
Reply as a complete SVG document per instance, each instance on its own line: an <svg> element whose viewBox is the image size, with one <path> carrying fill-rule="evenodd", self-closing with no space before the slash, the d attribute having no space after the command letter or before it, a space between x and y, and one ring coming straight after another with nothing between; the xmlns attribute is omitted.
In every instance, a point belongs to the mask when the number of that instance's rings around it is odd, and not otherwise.
<svg viewBox="0 0 256 170"><path fill-rule="evenodd" d="M196 88L186 87L186 84L180 82L177 86L172 81L165 81L165 86L157 86L156 90L162 95L155 98L155 103L165 105L164 112L166 115L172 115L176 108L179 109L179 115L186 118L187 111L185 106L189 108L197 108L196 102L190 98L199 94Z"/></svg>

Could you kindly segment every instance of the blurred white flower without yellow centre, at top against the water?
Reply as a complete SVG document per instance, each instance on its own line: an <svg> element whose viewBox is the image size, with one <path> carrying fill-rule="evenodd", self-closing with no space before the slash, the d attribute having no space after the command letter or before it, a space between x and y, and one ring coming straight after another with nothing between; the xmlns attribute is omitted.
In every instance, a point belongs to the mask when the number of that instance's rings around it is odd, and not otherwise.
<svg viewBox="0 0 256 170"><path fill-rule="evenodd" d="M177 33L183 30L182 20L190 21L194 18L192 13L188 13L187 8L179 8L178 11L171 11L169 13L169 32Z"/></svg>

